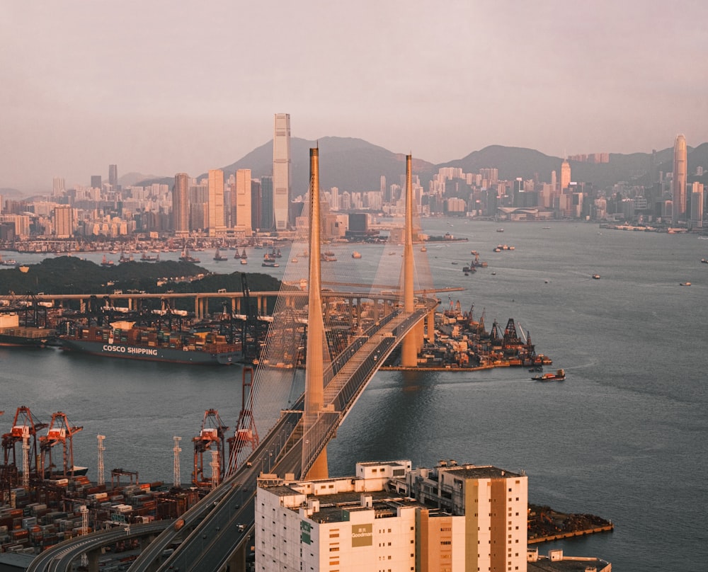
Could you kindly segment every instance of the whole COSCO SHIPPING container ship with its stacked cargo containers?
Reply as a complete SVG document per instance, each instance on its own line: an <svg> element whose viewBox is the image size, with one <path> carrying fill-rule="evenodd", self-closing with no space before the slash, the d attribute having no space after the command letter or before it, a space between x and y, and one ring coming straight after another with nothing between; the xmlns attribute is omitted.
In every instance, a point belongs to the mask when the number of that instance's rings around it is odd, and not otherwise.
<svg viewBox="0 0 708 572"><path fill-rule="evenodd" d="M228 343L212 331L163 331L130 321L77 326L59 341L68 350L129 360L230 365L242 356L240 344Z"/></svg>

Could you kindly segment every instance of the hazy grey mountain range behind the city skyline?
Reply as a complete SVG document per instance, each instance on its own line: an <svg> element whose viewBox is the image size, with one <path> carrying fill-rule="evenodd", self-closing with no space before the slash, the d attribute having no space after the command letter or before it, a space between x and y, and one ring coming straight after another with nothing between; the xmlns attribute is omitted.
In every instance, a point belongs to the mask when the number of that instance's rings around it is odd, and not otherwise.
<svg viewBox="0 0 708 572"><path fill-rule="evenodd" d="M337 187L340 190L365 191L378 190L381 176L387 185L403 183L406 171L406 156L394 153L383 147L351 137L324 137L317 141L292 137L290 156L292 159L292 193L303 195L309 186L309 149L319 147L319 178L322 188ZM433 164L413 157L413 174L417 175L423 188L427 188L440 167L459 167L464 173L477 173L482 168L497 168L501 180L538 178L549 182L551 172L560 176L563 158L549 156L523 147L505 147L490 145L479 151L473 151L462 159ZM611 188L615 183L626 181L634 185L653 185L659 171L673 171L673 147L651 153L610 154L609 163L584 163L569 161L573 181L592 183L595 188ZM696 167L702 166L707 174L702 177L692 176ZM273 141L256 147L238 161L222 167L224 177L239 168L250 168L253 178L261 178L273 173ZM708 143L688 148L689 182L701 181L708 185ZM205 177L202 173L198 178ZM171 185L173 177L147 178L137 182L137 173L130 173L131 182L121 184L147 185L165 183Z"/></svg>

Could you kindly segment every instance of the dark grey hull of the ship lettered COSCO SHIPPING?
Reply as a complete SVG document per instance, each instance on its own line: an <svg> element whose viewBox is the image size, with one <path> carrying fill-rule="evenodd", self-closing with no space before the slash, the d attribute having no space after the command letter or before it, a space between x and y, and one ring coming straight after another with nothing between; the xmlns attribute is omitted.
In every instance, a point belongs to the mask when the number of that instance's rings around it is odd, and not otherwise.
<svg viewBox="0 0 708 572"><path fill-rule="evenodd" d="M228 351L211 353L202 350L178 350L174 348L130 345L125 343L105 343L103 341L74 340L62 338L62 346L68 350L117 357L123 360L149 362L170 362L188 365L230 365L241 358L241 352Z"/></svg>

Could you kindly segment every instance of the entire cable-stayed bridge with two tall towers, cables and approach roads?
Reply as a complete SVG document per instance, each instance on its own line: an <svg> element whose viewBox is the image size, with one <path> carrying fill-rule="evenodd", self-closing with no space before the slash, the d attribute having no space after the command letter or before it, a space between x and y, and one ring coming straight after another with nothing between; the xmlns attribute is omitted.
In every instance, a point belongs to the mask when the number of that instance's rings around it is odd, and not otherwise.
<svg viewBox="0 0 708 572"><path fill-rule="evenodd" d="M311 150L310 220L321 219L316 151ZM141 534L149 543L130 571L244 569L253 535L258 479L326 476L326 445L382 362L400 345L401 363L416 365L424 323L428 319L432 332L438 300L428 295L434 290L425 256L413 252L410 157L407 163L404 248L402 256L394 259L402 264L382 261L379 268L384 276L370 282L387 284L390 280L382 278L400 271L398 290L354 289L357 279L361 282L360 272L321 264L333 255L320 252L319 225L308 225L307 250L303 251L309 257L307 278L296 273L305 265L292 265L292 274L286 273L261 362L242 404L224 480L217 485L215 479L213 490L176 523L155 523ZM330 269L333 273L328 276ZM295 295L293 286L302 286L303 281L307 301L302 290ZM348 287L323 292L323 284ZM303 350L304 376L296 367ZM139 532L134 527L126 534ZM89 571L97 571L102 535L105 544L115 542L105 532L81 537L41 554L28 570L69 569L67 560L81 554L83 547L89 556Z"/></svg>

